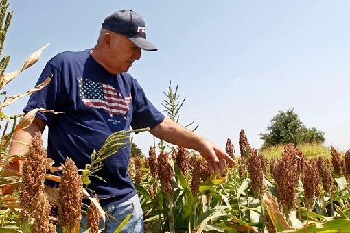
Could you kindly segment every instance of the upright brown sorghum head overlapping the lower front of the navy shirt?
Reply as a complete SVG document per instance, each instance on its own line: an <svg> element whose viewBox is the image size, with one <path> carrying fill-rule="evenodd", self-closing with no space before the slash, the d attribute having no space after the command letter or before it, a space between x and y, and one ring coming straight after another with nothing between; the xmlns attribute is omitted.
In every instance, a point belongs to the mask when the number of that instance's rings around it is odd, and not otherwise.
<svg viewBox="0 0 350 233"><path fill-rule="evenodd" d="M80 223L80 208L82 207L82 176L71 158L62 164L61 184L58 189L58 216L60 225L71 232Z"/></svg>

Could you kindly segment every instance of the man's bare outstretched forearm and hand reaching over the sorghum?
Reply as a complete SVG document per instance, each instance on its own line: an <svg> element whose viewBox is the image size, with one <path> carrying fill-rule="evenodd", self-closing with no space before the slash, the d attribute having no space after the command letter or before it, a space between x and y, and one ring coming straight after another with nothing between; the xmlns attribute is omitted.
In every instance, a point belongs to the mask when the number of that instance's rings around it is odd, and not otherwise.
<svg viewBox="0 0 350 233"><path fill-rule="evenodd" d="M220 170L222 175L225 174L224 160L235 164L235 160L229 154L211 143L211 141L203 138L196 132L187 130L170 119L164 119L162 123L151 129L150 133L168 143L198 151L207 160L209 169L215 173L218 173Z"/></svg>

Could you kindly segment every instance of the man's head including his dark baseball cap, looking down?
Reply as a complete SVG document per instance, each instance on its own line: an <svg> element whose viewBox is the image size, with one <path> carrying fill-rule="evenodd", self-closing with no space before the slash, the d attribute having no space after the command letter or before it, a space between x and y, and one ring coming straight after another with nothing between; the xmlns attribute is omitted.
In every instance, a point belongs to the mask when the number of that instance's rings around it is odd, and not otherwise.
<svg viewBox="0 0 350 233"><path fill-rule="evenodd" d="M127 72L141 58L141 49L157 50L146 40L145 22L131 10L119 10L104 19L91 55L108 72L117 74Z"/></svg>

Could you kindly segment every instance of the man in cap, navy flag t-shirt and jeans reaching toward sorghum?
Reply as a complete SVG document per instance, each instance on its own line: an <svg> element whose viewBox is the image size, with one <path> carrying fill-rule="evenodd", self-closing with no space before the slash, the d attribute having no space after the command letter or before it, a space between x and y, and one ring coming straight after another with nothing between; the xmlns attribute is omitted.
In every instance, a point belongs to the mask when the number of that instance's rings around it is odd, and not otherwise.
<svg viewBox="0 0 350 233"><path fill-rule="evenodd" d="M14 141L30 143L36 132L49 128L47 154L56 165L73 159L84 169L91 162L93 150L99 151L110 134L119 130L150 127L150 133L169 143L195 149L209 164L209 169L224 173L224 160L234 164L222 149L187 130L156 110L136 79L126 73L141 58L141 49L156 51L146 40L142 17L130 10L120 10L106 17L93 49L63 52L52 58L38 83L52 76L48 86L33 93L24 112L45 108L63 114L38 112L30 125L16 132ZM24 154L27 147L12 143L10 154ZM106 222L106 232L114 232L135 205L126 232L143 232L143 215L135 187L128 175L130 145L104 160L96 174L106 182L91 177L89 188L100 204L117 220ZM12 163L9 169L21 169Z"/></svg>

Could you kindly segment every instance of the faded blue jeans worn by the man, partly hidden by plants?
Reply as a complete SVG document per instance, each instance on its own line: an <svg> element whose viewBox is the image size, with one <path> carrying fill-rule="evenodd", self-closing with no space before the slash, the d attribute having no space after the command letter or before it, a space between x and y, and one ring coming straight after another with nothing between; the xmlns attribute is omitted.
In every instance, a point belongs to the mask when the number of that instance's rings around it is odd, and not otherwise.
<svg viewBox="0 0 350 233"><path fill-rule="evenodd" d="M134 211L132 212L132 215L129 219L129 221L124 225L124 228L121 229L121 232L135 232L135 233L142 233L143 232L143 212L141 208L141 204L139 201L139 197L135 195L134 197L131 197L127 201L124 201L123 203L115 204L112 206L106 206L104 207L104 211L108 212L108 214L112 215L113 217L108 217L106 215L106 226L102 232L104 233L110 233L115 232L117 228L119 227L120 223L130 214L132 211L132 204L134 204ZM86 217L82 217L81 223L86 226ZM100 228L103 226L103 220L101 218L100 220ZM59 227L56 228L57 232L62 232ZM80 233L86 231L84 228L80 228Z"/></svg>

